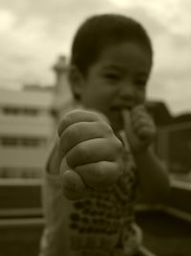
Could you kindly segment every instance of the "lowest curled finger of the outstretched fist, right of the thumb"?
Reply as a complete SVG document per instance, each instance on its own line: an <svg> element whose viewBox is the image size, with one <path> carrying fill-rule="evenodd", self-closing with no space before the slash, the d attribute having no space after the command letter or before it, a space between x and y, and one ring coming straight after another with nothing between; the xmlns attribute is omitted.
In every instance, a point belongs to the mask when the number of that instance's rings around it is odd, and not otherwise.
<svg viewBox="0 0 191 256"><path fill-rule="evenodd" d="M123 174L123 170L123 162L120 158L116 162L101 161L75 168L75 171L83 176L84 182L97 190L114 185L117 178Z"/></svg>

